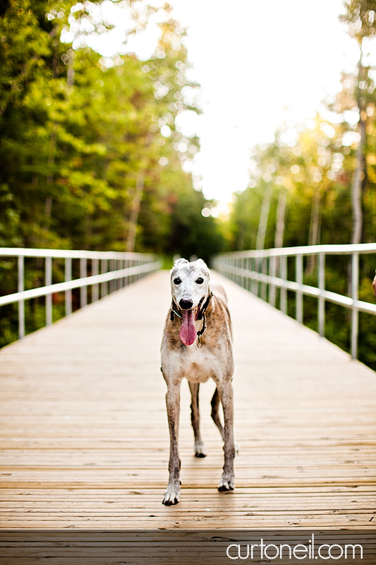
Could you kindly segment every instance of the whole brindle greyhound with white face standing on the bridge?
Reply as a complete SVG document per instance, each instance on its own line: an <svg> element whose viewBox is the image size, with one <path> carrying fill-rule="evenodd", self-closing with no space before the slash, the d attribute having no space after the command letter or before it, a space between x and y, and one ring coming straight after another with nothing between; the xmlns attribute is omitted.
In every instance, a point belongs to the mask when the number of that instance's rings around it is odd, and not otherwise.
<svg viewBox="0 0 376 565"><path fill-rule="evenodd" d="M216 383L212 398L212 419L224 440L224 468L219 491L234 490L233 388L234 359L231 320L222 287L210 289L210 271L202 259L190 263L178 259L171 269L172 304L164 325L161 371L167 385L166 408L170 432L169 484L163 504L180 500L178 425L180 386L188 379L192 395L191 421L195 436L195 456L205 457L200 435L198 390L212 377ZM224 427L219 418L222 402Z"/></svg>

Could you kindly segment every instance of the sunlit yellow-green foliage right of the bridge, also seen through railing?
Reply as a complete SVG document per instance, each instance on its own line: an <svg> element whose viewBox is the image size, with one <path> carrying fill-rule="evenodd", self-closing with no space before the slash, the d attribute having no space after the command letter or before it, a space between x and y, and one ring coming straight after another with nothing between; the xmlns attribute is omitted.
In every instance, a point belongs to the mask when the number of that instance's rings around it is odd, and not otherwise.
<svg viewBox="0 0 376 565"><path fill-rule="evenodd" d="M348 32L359 44L376 30L376 2L349 0L346 14ZM250 160L248 189L236 195L230 218L231 249L255 249L261 210L267 195L272 199L267 217L265 248L274 247L278 230L279 198L286 193L283 245L348 244L353 233L351 185L358 170L360 117L365 124L364 173L360 172L363 242L375 242L376 218L376 91L372 69L360 63L353 73L343 73L341 91L305 124L284 124L274 141L254 148ZM281 229L279 227L279 229ZM327 258L325 287L349 295L349 258ZM374 302L371 282L375 255L360 258L359 297ZM291 273L294 278L295 273ZM314 259L305 262L304 282L317 286ZM289 314L295 316L293 297ZM305 297L304 323L317 331L317 300ZM327 338L348 350L350 314L334 304L326 305ZM360 314L359 359L376 369L376 317Z"/></svg>

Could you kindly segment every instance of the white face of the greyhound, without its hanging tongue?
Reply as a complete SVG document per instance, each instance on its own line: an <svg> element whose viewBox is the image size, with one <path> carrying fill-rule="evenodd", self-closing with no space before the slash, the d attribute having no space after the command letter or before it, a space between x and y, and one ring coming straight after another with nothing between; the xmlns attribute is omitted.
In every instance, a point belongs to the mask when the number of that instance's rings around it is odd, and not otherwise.
<svg viewBox="0 0 376 565"><path fill-rule="evenodd" d="M171 295L182 310L197 309L202 304L209 295L209 268L202 259L175 262L171 269Z"/></svg>

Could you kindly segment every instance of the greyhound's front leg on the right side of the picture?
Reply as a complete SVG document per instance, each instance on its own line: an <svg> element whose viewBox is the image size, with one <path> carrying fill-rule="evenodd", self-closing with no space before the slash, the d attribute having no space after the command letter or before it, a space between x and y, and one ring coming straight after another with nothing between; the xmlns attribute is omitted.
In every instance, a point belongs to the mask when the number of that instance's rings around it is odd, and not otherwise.
<svg viewBox="0 0 376 565"><path fill-rule="evenodd" d="M224 412L224 468L218 490L234 490L234 394L231 382L217 383Z"/></svg>

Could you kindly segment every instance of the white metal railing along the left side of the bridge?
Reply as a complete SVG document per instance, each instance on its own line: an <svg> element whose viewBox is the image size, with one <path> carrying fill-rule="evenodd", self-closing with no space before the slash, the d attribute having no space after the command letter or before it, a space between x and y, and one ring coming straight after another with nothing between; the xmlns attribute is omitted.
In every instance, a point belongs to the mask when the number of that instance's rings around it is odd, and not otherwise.
<svg viewBox="0 0 376 565"><path fill-rule="evenodd" d="M116 251L70 251L60 249L23 249L0 247L0 258L16 257L18 261L18 292L0 297L0 307L18 302L18 335L25 336L25 300L46 297L46 324L52 323L52 295L65 293L66 315L72 312L72 290L80 288L80 307L87 305L87 287L92 287L92 302L135 282L162 266L153 254L118 253ZM44 259L44 286L25 290L25 257ZM63 258L65 277L63 283L52 284L52 259ZM72 280L72 261L80 261L80 278ZM90 261L91 275L87 276ZM99 273L100 266L100 273Z"/></svg>

